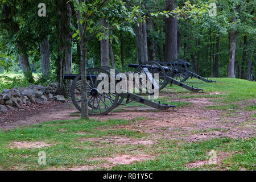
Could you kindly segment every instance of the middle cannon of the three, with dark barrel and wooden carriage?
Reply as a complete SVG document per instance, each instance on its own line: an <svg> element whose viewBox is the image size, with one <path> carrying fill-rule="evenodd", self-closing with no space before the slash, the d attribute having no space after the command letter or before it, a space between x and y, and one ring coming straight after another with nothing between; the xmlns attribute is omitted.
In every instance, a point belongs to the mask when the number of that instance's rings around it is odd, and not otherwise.
<svg viewBox="0 0 256 182"><path fill-rule="evenodd" d="M177 67L180 67L180 69L185 66L183 63L177 64ZM134 73L143 73L146 74L148 77L154 77L156 74L158 74L159 79L159 90L162 90L168 83L172 86L172 84L181 86L182 88L185 88L192 92L199 92L200 90L203 91L203 89L194 88L193 86L189 86L187 84L184 84L181 82L181 76L179 76L180 80L176 80L174 77L174 73L176 74L176 70L171 69L168 65L161 65L160 63L157 63L156 61L147 61L142 64L128 64L129 68L135 68ZM184 69L187 69L185 66ZM185 72L184 72L185 74ZM143 83L140 85L136 85L139 87L140 90L143 89ZM147 89L146 86L144 86L144 89Z"/></svg>

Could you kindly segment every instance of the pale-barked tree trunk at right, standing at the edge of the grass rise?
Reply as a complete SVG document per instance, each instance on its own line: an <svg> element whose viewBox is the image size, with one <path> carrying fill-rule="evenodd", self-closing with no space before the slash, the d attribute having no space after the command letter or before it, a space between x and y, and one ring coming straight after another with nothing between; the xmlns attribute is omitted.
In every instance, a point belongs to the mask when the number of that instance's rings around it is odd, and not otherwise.
<svg viewBox="0 0 256 182"><path fill-rule="evenodd" d="M232 22L236 21L236 17L232 18ZM236 38L237 32L232 30L229 32L229 66L228 66L228 77L236 78L235 74L235 55L236 55Z"/></svg>

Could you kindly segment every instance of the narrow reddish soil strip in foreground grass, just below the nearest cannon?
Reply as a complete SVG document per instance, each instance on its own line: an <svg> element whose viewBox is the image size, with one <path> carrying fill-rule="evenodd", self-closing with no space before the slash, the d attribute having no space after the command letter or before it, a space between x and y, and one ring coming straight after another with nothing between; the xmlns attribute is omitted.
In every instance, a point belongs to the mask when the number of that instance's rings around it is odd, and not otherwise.
<svg viewBox="0 0 256 182"><path fill-rule="evenodd" d="M81 142L94 142L94 144L100 145L101 143L125 145L125 144L143 144L148 145L152 144L152 140L138 140L135 138L125 138L125 137L116 137L108 136L108 138L82 138Z"/></svg>

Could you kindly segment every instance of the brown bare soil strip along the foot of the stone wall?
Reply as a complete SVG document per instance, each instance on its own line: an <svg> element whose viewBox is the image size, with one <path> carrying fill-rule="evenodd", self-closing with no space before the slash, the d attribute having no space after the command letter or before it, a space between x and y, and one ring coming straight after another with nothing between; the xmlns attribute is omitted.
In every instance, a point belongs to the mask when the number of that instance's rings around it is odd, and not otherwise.
<svg viewBox="0 0 256 182"><path fill-rule="evenodd" d="M49 101L48 104L31 104L29 107L24 107L24 109L9 110L7 113L0 115L0 129L31 125L44 121L79 118L70 116L74 111L77 110L69 100L64 103Z"/></svg>

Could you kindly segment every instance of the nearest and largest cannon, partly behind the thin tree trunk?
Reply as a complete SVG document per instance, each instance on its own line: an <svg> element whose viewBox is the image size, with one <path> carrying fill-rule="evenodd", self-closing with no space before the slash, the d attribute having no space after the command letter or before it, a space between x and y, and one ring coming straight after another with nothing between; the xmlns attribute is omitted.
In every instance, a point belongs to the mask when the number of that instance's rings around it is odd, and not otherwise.
<svg viewBox="0 0 256 182"><path fill-rule="evenodd" d="M167 110L170 107L174 109L173 105L160 104L147 100L134 93L129 93L126 90L122 93L117 93L116 90L112 90L111 84L116 86L122 77L117 77L118 71L115 73L110 72L109 67L90 68L86 71L86 90L87 90L87 104L89 115L104 115L122 104L123 100L135 101L141 104L154 107L159 110ZM64 79L73 80L71 85L71 99L76 109L81 111L81 74L79 75L64 75ZM104 89L103 92L98 90L102 82L107 81L109 86ZM105 88L105 86L104 86ZM121 89L121 88L120 88Z"/></svg>

